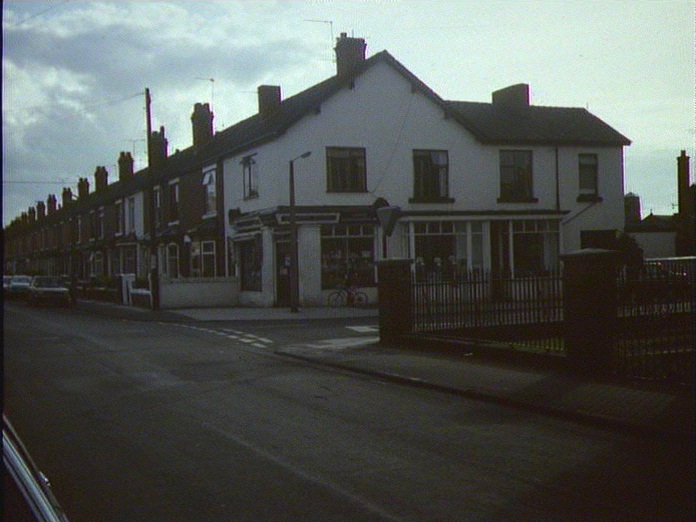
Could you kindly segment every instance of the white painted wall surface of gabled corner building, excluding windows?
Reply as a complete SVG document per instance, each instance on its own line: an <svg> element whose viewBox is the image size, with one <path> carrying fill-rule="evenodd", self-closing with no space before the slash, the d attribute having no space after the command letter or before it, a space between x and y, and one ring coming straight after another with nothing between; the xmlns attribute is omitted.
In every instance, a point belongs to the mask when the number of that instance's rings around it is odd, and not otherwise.
<svg viewBox="0 0 696 522"><path fill-rule="evenodd" d="M331 146L366 149L368 192L327 192L326 147ZM448 151L449 196L455 199L453 203L409 203L413 196L413 149ZM533 151L534 196L538 202L497 201L502 149ZM353 88L338 91L321 105L318 114L308 114L277 140L225 160L225 215L233 208L246 213L288 205L289 161L306 151L312 155L294 163L298 206L370 205L377 197L383 197L405 211L554 211L560 207L568 211L562 218L562 222L567 222L561 232L562 252L580 247L581 230L622 230L624 226L622 147L556 149L542 145L483 145L461 125L445 118L443 111L425 95L414 93L409 82L385 63L377 63L355 80ZM580 153L598 155L601 203L589 205L577 201ZM256 154L259 195L245 200L241 161L250 154ZM231 236L227 220L225 226ZM319 243L318 228L300 227L301 295L312 304L324 301L318 267ZM377 245L376 258L379 258L379 235ZM268 254L274 252L269 248L272 246L272 241L265 239L264 278L275 277L274 256ZM401 240L390 239L391 256L402 255L403 250ZM317 256L316 261L313 256ZM254 304L273 302L275 296L267 288L264 283L265 293L254 297Z"/></svg>

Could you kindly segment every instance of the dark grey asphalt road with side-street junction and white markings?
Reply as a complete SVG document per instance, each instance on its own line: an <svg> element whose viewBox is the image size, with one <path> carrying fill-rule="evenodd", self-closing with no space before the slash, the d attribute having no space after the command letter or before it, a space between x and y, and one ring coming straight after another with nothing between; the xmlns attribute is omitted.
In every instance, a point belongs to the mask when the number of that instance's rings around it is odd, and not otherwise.
<svg viewBox="0 0 696 522"><path fill-rule="evenodd" d="M273 353L345 325L4 312L5 412L73 522L693 516L692 444Z"/></svg>

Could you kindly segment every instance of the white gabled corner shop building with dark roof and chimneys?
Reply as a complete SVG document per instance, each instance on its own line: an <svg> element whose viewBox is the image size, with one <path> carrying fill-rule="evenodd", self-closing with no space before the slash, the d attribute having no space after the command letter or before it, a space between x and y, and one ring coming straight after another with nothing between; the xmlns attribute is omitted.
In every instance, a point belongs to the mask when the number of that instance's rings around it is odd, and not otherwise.
<svg viewBox="0 0 696 522"><path fill-rule="evenodd" d="M218 164L240 305L288 303L291 168L302 306L325 305L346 274L375 300L384 258L524 277L623 230L630 141L602 120L531 105L526 84L445 101L365 48L341 34L335 76L285 100L261 86L259 113L221 131L235 144ZM388 236L384 205L398 212Z"/></svg>

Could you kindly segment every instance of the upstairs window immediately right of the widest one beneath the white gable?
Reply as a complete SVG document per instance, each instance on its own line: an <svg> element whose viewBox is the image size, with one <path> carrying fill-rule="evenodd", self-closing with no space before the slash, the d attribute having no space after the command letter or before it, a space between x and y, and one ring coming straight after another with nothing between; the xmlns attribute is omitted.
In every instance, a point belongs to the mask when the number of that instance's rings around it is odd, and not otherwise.
<svg viewBox="0 0 696 522"><path fill-rule="evenodd" d="M413 151L412 202L452 201L448 198L449 159L446 150Z"/></svg>

